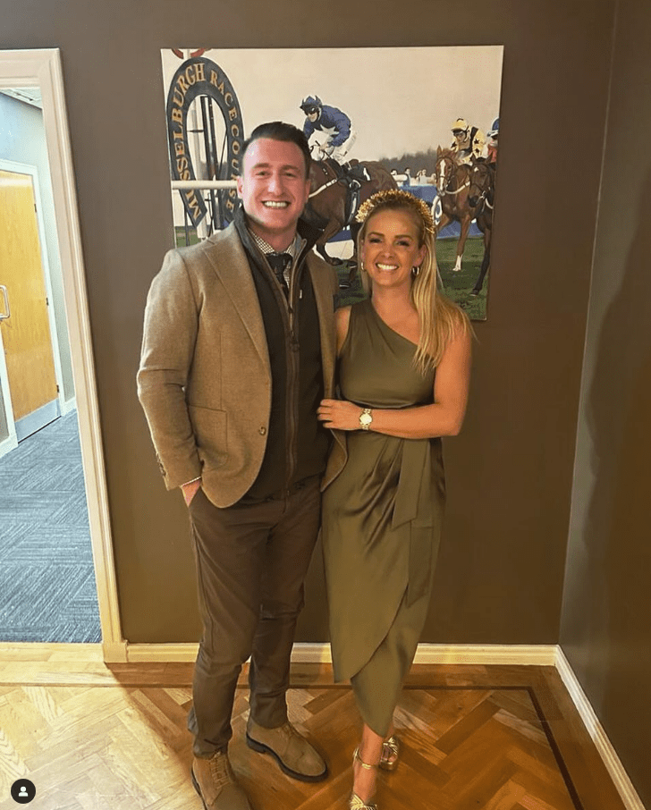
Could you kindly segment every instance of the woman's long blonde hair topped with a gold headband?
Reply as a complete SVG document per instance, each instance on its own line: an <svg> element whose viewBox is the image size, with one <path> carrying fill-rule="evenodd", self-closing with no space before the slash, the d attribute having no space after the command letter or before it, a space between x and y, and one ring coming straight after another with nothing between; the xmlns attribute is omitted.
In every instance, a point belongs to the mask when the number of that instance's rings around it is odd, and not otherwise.
<svg viewBox="0 0 651 810"><path fill-rule="evenodd" d="M436 266L434 221L427 205L408 191L389 189L378 191L359 208L358 222L362 223L357 236L357 255L361 257L362 243L368 231L368 221L380 211L405 211L418 227L418 247L425 247L425 258L411 282L410 298L418 313L418 348L414 366L421 374L441 362L444 351L458 334L471 330L466 313L441 290L443 284ZM361 260L359 260L361 267ZM361 267L362 271L364 270ZM371 280L361 274L364 289L371 293Z"/></svg>

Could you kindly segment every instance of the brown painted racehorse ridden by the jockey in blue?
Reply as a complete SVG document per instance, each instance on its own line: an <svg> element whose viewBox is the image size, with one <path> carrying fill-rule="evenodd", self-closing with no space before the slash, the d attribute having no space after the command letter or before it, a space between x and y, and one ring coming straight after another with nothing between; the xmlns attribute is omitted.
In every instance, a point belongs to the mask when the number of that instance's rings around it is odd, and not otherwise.
<svg viewBox="0 0 651 810"><path fill-rule="evenodd" d="M366 169L370 180L360 180L359 205L365 202L376 191L397 189L398 186L385 167L373 160L363 160L359 166ZM342 181L341 174L337 173L332 165L324 160L313 160L309 170L309 179L312 183L309 193L308 206L311 212L325 224L325 231L317 240L317 251L326 262L340 264L339 259L329 257L325 252L325 243L332 239L335 233L342 231L348 224L351 225L353 244L359 231L359 224L347 221L347 208L349 187Z"/></svg>

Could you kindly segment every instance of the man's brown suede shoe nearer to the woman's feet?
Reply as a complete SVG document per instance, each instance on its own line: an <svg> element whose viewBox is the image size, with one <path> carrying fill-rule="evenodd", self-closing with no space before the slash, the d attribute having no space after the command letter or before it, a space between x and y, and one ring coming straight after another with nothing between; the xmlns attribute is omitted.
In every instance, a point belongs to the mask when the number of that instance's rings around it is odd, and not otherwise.
<svg viewBox="0 0 651 810"><path fill-rule="evenodd" d="M247 745L261 754L275 757L281 771L292 779L319 782L328 775L328 768L322 757L290 722L275 729L266 729L249 717Z"/></svg>

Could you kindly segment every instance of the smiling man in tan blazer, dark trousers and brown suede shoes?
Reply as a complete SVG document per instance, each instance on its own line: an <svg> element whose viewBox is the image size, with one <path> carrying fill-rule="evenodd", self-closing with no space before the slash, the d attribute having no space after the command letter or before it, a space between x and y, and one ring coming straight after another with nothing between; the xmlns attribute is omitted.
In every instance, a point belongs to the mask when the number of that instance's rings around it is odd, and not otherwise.
<svg viewBox="0 0 651 810"><path fill-rule="evenodd" d="M206 810L250 808L227 755L249 655L249 747L295 779L327 775L285 699L328 448L317 405L334 375L337 283L299 221L309 160L292 125L254 130L232 224L167 254L145 313L139 399L165 485L188 504L197 561L204 630L188 727Z"/></svg>

